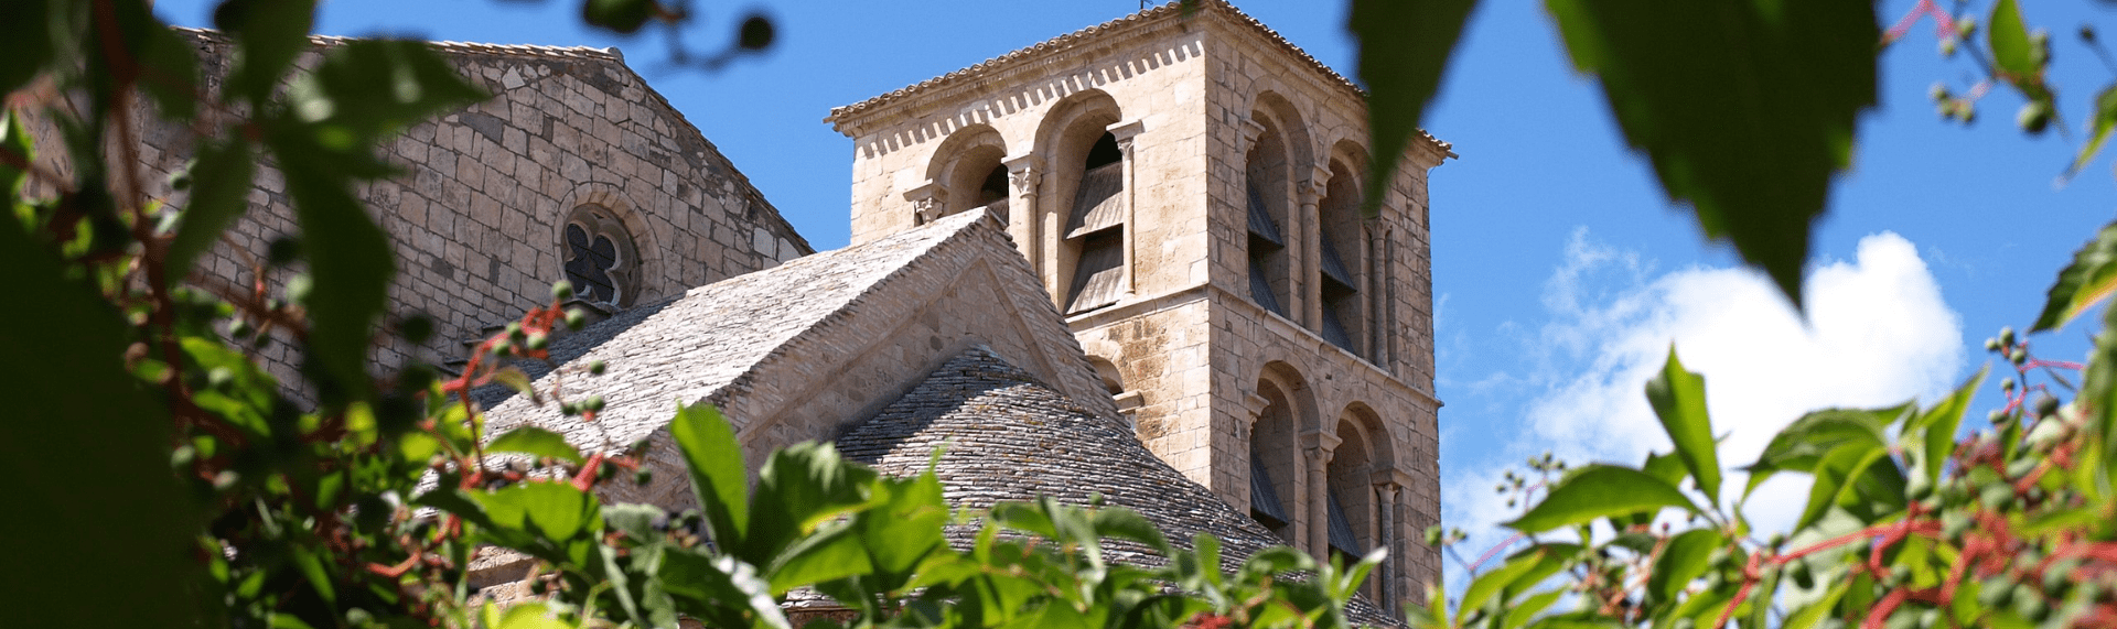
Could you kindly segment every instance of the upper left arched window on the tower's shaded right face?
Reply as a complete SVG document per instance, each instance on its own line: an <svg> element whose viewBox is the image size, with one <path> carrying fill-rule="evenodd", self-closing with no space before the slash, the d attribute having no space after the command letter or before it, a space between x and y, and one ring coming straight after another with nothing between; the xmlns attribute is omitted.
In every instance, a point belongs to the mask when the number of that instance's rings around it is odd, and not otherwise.
<svg viewBox="0 0 2117 629"><path fill-rule="evenodd" d="M1289 165L1285 133L1270 116L1255 116L1264 127L1243 165L1243 193L1249 216L1249 299L1260 307L1293 318L1291 258L1287 252Z"/></svg>

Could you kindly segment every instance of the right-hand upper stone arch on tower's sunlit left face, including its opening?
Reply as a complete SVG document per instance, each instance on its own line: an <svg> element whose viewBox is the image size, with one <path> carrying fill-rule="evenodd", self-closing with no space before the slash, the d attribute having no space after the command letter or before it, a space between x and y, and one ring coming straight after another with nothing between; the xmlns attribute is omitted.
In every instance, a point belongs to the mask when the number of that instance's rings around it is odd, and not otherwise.
<svg viewBox="0 0 2117 629"><path fill-rule="evenodd" d="M1037 216L1056 214L1056 233L1046 235L1052 256L1046 277L1058 309L1080 313L1116 303L1124 275L1122 212L1107 212L1107 199L1122 203L1124 182L1109 167L1122 157L1111 125L1124 121L1118 100L1101 89L1067 95L1037 125L1035 155L1046 165ZM1092 197L1084 197L1092 195Z"/></svg>

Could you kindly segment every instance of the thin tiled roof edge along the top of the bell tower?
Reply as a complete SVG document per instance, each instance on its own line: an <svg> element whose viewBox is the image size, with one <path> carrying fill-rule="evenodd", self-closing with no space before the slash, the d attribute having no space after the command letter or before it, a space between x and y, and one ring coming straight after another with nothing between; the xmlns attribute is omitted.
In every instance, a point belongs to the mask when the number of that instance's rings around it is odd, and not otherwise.
<svg viewBox="0 0 2117 629"><path fill-rule="evenodd" d="M1249 13L1243 13L1243 8L1236 8L1234 4L1228 4L1226 0L1196 0L1194 8L1198 13L1207 13L1207 15L1230 17L1234 23L1249 28L1251 32L1255 32L1257 36L1262 36L1264 40L1268 40L1272 44L1279 44L1281 51L1285 51L1287 55L1291 55L1300 64L1306 64L1315 72L1323 74L1327 83L1344 87L1346 91L1351 91L1361 102L1368 100L1368 91L1361 89L1359 83L1353 83L1351 78L1344 78L1344 74L1338 74L1338 70L1332 70L1323 61L1317 61L1315 55L1308 55L1308 51L1304 51L1302 47L1293 44L1291 40L1287 40L1285 36L1281 36L1277 30L1272 30L1270 25L1264 25L1264 21L1257 21L1255 17L1249 17ZM864 102L855 102L855 104L849 104L849 106L832 108L830 114L824 116L824 121L838 125L840 131L843 131L845 129L843 125L845 125L847 119L864 114L864 112L874 110L874 108L881 108L885 104L891 104L891 102L898 102L898 100L906 100L906 97L912 97L912 95L919 95L919 93L925 93L925 91L934 91L934 89L940 89L940 87L946 87L946 85L955 85L955 83L961 83L961 80L976 80L980 76L999 72L1003 68L1023 64L1023 61L1027 61L1031 57L1050 55L1050 53L1056 53L1061 49L1080 44L1084 40L1103 36L1107 32L1126 30L1126 28L1135 28L1135 25L1147 25L1147 23L1156 23L1156 21L1162 21L1162 19L1188 17L1186 13L1190 13L1190 11L1192 8L1183 6L1183 0L1160 4L1160 6L1152 6L1152 8L1145 8L1145 11L1126 15L1126 17L1118 17L1118 19L1111 19L1111 21L1105 21L1105 23L1097 23L1097 25L1090 25L1090 28L1084 28L1084 30L1075 30L1075 32L1069 32L1069 34L1063 34L1063 36L1056 36L1056 38L1048 38L1048 40L1042 40L1042 42L1035 42L1035 44L1010 51L1010 53L999 55L999 57L984 59L984 61L980 61L976 66L970 66L970 68L963 68L963 70L955 70L955 72L948 72L948 74L942 74L942 76L919 80L919 83L893 89L889 93L883 93L883 95L876 95L876 97L870 97L870 100L864 100ZM1433 138L1425 129L1418 129L1418 136L1425 138L1427 142L1433 142L1444 152L1454 150L1452 144L1442 142L1440 138Z"/></svg>

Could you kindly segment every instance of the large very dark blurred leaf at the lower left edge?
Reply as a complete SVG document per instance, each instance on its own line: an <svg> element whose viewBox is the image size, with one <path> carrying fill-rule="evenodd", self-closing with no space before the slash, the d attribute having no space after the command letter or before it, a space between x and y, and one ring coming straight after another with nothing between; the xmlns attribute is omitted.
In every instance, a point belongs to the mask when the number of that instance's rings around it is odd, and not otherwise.
<svg viewBox="0 0 2117 629"><path fill-rule="evenodd" d="M13 28L13 25L0 25ZM8 205L19 203L13 197ZM13 210L13 208L11 208ZM13 214L13 212L11 212ZM95 286L68 280L51 248L0 220L0 474L8 483L0 576L11 627L191 627L199 608L191 491L169 474L167 407L121 360L133 339ZM51 481L30 481L51 479ZM123 570L114 570L123 565ZM34 568L34 570L32 570ZM123 591L123 604L110 593ZM34 601L34 604L28 604Z"/></svg>

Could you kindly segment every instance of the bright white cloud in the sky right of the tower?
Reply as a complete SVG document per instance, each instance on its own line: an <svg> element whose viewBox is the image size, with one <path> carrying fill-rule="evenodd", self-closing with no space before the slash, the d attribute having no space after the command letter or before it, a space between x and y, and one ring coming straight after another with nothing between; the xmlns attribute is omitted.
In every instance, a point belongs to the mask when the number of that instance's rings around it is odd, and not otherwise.
<svg viewBox="0 0 2117 629"><path fill-rule="evenodd" d="M1683 364L1706 377L1706 405L1721 464L1749 464L1806 411L1886 407L1948 392L1962 364L1960 320L1941 301L1918 248L1895 233L1859 241L1852 260L1827 260L1808 275L1808 322L1759 273L1679 269L1655 275L1636 252L1598 246L1577 231L1543 290L1550 320L1528 343L1518 396L1514 460L1539 451L1584 462L1639 464L1668 451L1647 407L1645 383L1675 343ZM1446 419L1444 419L1446 421ZM1492 493L1497 468L1454 468L1444 485L1450 525L1471 532L1465 549L1499 542L1507 510ZM1740 487L1740 477L1727 487ZM1791 523L1806 481L1772 481L1751 515ZM1732 493L1730 493L1732 496ZM1471 553L1465 553L1471 555ZM1471 557L1473 559L1473 557Z"/></svg>

